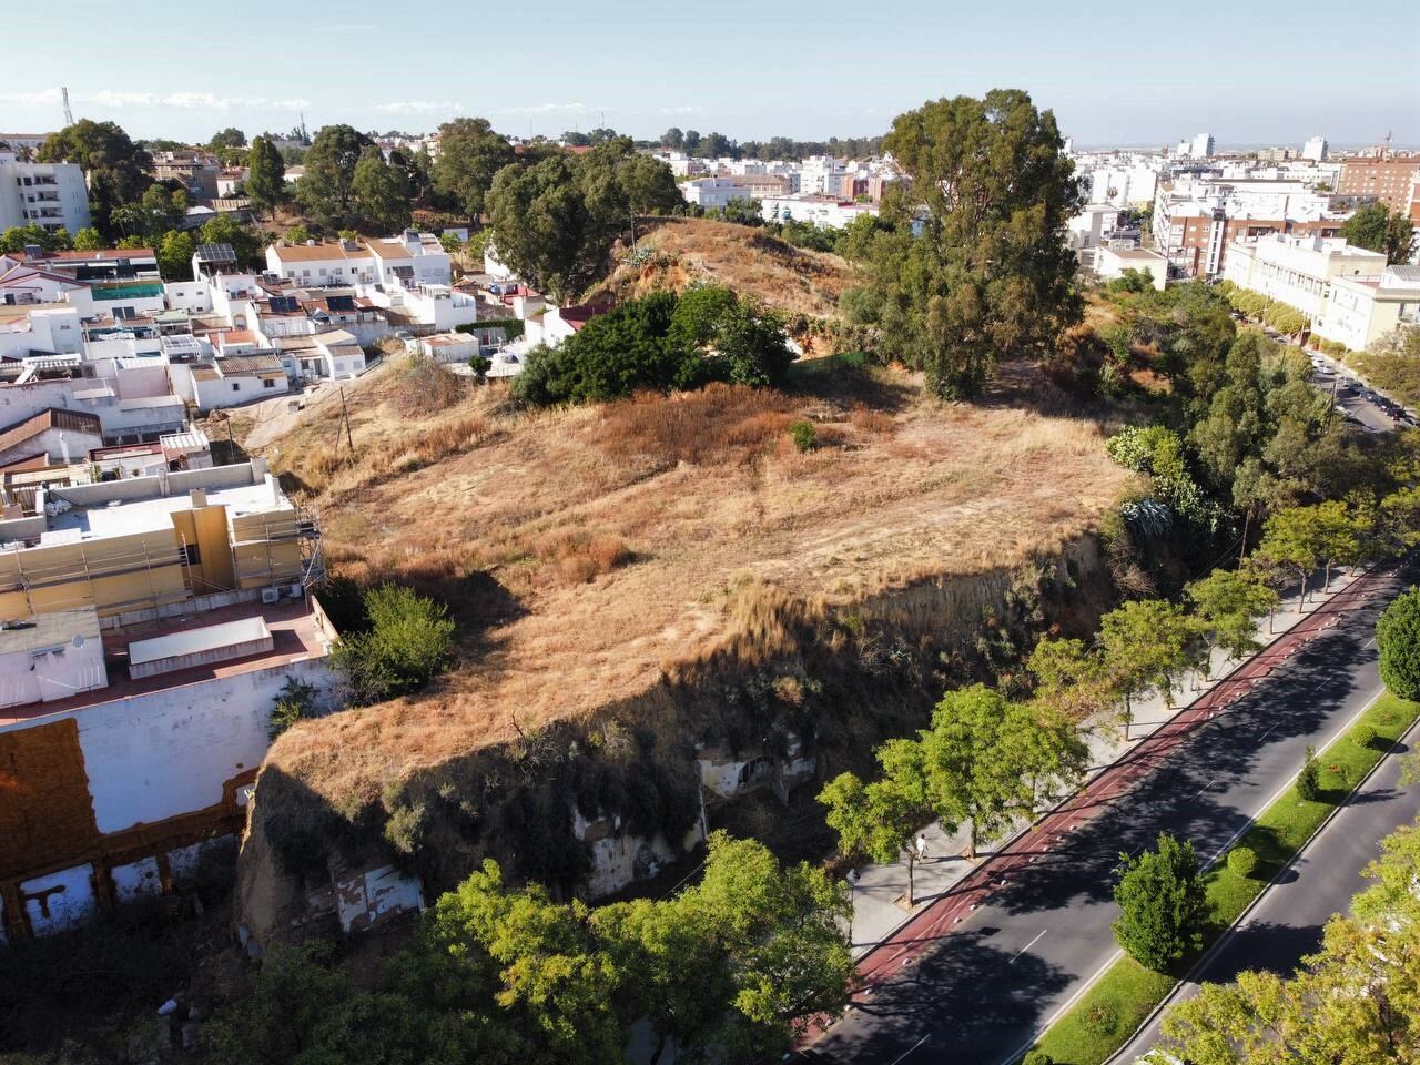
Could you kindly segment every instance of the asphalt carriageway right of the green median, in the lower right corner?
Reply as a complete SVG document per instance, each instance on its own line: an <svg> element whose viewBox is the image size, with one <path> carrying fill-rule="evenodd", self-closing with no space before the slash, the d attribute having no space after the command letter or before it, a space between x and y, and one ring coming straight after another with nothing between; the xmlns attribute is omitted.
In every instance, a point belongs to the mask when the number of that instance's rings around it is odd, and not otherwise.
<svg viewBox="0 0 1420 1065"><path fill-rule="evenodd" d="M1291 973L1305 954L1315 953L1326 922L1333 913L1345 913L1350 897L1366 885L1360 872L1379 856L1380 841L1420 816L1420 787L1400 785L1396 757L1410 750L1417 733L1420 726L1204 957L1173 1003L1193 998L1203 981L1227 983L1245 968ZM1162 1020L1156 1017L1115 1061L1130 1062L1147 1054L1159 1042Z"/></svg>

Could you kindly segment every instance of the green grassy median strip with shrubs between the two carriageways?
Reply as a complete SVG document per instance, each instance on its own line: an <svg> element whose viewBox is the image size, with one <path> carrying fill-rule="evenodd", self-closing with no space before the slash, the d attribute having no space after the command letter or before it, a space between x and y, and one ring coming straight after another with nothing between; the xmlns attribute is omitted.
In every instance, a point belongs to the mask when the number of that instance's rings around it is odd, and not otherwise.
<svg viewBox="0 0 1420 1065"><path fill-rule="evenodd" d="M1257 855L1250 876L1238 876L1225 862L1206 875L1213 920L1204 932L1207 950L1248 905L1262 893L1296 852L1306 845L1326 816L1336 809L1360 780L1376 767L1392 744L1420 716L1420 703L1384 694L1350 727L1318 755L1321 798L1304 801L1296 788L1262 811L1262 815L1234 842ZM1367 730L1375 730L1370 736ZM1360 746L1358 740L1370 741ZM1132 957L1123 957L1041 1037L1034 1049L1044 1051L1056 1065L1100 1065L1135 1034L1173 990L1179 978L1193 968L1200 954L1186 958L1177 974L1153 973Z"/></svg>

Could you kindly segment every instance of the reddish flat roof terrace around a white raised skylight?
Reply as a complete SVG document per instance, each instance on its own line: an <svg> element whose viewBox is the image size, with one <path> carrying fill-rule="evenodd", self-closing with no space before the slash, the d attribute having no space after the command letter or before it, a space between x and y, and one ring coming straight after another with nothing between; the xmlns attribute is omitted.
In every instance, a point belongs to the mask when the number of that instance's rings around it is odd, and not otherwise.
<svg viewBox="0 0 1420 1065"><path fill-rule="evenodd" d="M160 673L142 680L133 680L128 674L129 646L133 643L142 645L153 639L182 640L187 639L189 633L197 633L200 629L213 625L226 625L230 622L253 625L253 621L263 622L271 632L271 650L247 655L240 659L179 669L172 673ZM70 636L72 638L72 632ZM0 728L17 721L82 711L119 699L132 699L133 696L149 694L152 692L202 684L209 680L254 673L290 662L325 656L325 645L321 640L320 628L315 623L315 616L311 613L310 602L304 599L271 605L244 602L183 618L160 618L138 625L125 625L119 629L105 629L101 639L104 640L104 660L108 665L108 687L95 689L94 692L80 692L68 699L51 700L48 703L7 706L0 709Z"/></svg>

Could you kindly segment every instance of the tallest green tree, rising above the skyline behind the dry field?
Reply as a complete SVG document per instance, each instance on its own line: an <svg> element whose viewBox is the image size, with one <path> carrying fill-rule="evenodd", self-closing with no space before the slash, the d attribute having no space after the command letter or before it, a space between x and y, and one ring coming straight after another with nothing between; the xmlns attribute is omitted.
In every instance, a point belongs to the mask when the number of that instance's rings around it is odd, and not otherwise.
<svg viewBox="0 0 1420 1065"><path fill-rule="evenodd" d="M1054 114L1018 89L937 99L885 148L912 179L861 305L886 354L944 398L977 395L1003 356L1051 354L1081 315L1065 223L1083 203Z"/></svg>

